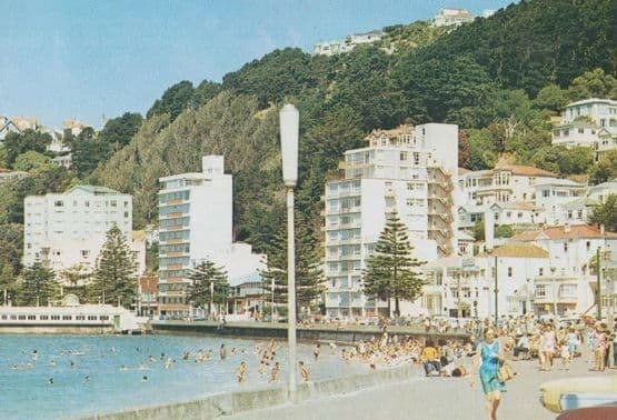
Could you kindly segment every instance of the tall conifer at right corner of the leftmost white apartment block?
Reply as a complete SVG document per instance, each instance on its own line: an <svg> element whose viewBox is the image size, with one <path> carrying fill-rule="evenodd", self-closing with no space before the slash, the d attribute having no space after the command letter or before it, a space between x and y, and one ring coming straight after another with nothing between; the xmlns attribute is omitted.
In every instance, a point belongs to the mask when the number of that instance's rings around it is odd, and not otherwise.
<svg viewBox="0 0 617 420"><path fill-rule="evenodd" d="M137 294L136 261L118 226L107 232L107 240L97 259L91 294L102 303L130 308Z"/></svg>

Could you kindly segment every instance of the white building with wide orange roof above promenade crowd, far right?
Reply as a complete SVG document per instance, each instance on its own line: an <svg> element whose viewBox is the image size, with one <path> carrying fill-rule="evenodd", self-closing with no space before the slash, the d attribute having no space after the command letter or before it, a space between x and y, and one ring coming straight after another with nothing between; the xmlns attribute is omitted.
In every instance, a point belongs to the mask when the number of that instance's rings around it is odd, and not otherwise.
<svg viewBox="0 0 617 420"><path fill-rule="evenodd" d="M610 253L617 234L589 224L569 224L521 232L512 242L537 244L548 251L548 268L535 276L535 310L538 313L585 313L594 308L597 279L590 262L600 249Z"/></svg>

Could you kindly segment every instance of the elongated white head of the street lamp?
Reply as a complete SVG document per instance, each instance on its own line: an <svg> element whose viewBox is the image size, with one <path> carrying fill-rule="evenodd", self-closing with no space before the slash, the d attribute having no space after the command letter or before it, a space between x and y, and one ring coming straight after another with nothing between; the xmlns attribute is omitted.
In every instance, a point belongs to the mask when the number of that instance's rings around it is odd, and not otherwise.
<svg viewBox="0 0 617 420"><path fill-rule="evenodd" d="M295 106L286 103L280 110L280 149L282 180L287 187L298 182L298 136L300 114Z"/></svg>

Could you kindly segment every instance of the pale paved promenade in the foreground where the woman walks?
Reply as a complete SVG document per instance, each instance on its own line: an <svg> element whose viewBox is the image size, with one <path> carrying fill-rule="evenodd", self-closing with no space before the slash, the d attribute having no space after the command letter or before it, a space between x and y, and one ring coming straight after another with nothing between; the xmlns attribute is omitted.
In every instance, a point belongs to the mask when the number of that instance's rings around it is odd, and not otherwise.
<svg viewBox="0 0 617 420"><path fill-rule="evenodd" d="M519 372L516 379L507 383L498 411L499 420L549 420L556 414L539 403L539 386L551 379L581 377L591 374L613 374L617 380L617 370L605 373L590 372L587 354L575 359L569 371L561 371L557 359L555 370L539 372L537 359L514 361L512 368ZM303 420L303 419L447 419L479 420L486 419L485 397L479 378L474 388L466 379L425 378L392 383L377 388L305 401L298 404L285 404L265 410L240 413L232 419L243 420Z"/></svg>

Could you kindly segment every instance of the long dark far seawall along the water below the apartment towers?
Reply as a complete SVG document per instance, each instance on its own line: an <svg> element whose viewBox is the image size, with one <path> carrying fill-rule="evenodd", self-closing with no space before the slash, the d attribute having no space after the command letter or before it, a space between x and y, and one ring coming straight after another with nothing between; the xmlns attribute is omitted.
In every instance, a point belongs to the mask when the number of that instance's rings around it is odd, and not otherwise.
<svg viewBox="0 0 617 420"><path fill-rule="evenodd" d="M218 323L208 321L186 322L186 321L152 321L153 332L173 332L173 333L191 333L191 334L209 334L223 337L243 337L243 338L287 338L286 323L261 323L261 322L232 322L219 328ZM464 332L425 332L414 327L389 326L388 334L397 334L399 337L412 337L425 339L427 337L446 340L452 339L464 341L469 334ZM377 326L345 326L337 328L331 324L319 324L311 327L298 327L297 338L305 341L328 341L354 343L357 341L368 341L371 338L378 338L382 331Z"/></svg>

